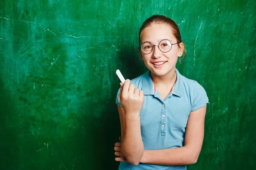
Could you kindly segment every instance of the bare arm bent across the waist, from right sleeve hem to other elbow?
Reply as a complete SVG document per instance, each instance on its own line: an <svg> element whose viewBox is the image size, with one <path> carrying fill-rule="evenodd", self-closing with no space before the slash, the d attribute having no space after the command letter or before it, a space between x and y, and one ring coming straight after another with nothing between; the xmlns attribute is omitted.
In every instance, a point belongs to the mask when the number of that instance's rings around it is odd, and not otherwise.
<svg viewBox="0 0 256 170"><path fill-rule="evenodd" d="M159 165L194 164L198 160L203 144L205 113L206 106L190 113L183 147L144 150L140 162Z"/></svg>

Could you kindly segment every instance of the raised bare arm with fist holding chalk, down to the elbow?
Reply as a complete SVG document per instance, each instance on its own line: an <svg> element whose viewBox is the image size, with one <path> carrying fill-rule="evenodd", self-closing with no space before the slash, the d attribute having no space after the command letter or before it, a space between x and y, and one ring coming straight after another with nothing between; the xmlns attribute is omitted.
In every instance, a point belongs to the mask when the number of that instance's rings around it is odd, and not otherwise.
<svg viewBox="0 0 256 170"><path fill-rule="evenodd" d="M144 151L140 130L140 110L144 95L143 92L134 89L134 85L129 85L129 83L130 81L125 81L123 87L121 85L119 94L119 101L123 106L123 108L118 106L122 136L121 149L127 161L137 165L140 163ZM134 95L137 96L137 99ZM139 106L136 107L138 104Z"/></svg>

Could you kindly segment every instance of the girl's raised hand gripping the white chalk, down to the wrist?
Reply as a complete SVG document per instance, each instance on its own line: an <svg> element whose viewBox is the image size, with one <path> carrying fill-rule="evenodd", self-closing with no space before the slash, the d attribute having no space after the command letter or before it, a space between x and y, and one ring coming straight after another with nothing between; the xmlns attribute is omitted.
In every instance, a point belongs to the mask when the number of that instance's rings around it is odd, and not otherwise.
<svg viewBox="0 0 256 170"><path fill-rule="evenodd" d="M126 79L124 84L120 83L120 86L118 100L125 113L140 113L144 102L143 91L130 84L129 79Z"/></svg>

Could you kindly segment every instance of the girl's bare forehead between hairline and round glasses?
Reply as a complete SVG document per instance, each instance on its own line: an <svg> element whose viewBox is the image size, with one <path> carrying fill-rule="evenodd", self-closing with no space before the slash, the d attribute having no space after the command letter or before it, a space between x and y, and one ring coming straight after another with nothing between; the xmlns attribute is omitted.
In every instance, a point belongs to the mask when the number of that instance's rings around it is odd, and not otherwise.
<svg viewBox="0 0 256 170"><path fill-rule="evenodd" d="M150 26L146 27L140 34L141 42L149 41L152 43L157 43L163 39L168 39L172 42L176 41L176 38L173 35L171 27L165 23L152 23Z"/></svg>

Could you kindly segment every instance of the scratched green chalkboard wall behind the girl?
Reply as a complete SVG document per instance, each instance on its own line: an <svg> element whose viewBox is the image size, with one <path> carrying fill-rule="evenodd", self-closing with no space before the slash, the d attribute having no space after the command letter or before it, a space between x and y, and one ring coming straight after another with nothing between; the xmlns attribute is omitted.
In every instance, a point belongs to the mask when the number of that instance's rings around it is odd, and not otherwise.
<svg viewBox="0 0 256 170"><path fill-rule="evenodd" d="M189 170L256 166L255 0L0 0L0 170L117 169L119 69L146 71L143 21L174 19L180 73L210 104Z"/></svg>

